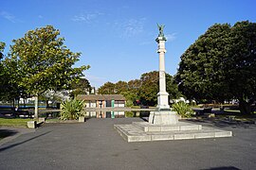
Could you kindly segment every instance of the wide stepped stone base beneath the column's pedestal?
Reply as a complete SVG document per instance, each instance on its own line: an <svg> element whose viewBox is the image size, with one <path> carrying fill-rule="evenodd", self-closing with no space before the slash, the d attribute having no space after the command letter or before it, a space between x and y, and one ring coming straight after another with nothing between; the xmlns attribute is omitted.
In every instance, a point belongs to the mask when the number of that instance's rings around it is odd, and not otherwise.
<svg viewBox="0 0 256 170"><path fill-rule="evenodd" d="M141 123L139 125L139 123ZM120 136L130 142L174 141L204 138L231 137L232 132L213 127L202 127L189 123L177 123L175 126L158 126L147 122L137 125L114 125ZM148 130L148 131L147 131Z"/></svg>

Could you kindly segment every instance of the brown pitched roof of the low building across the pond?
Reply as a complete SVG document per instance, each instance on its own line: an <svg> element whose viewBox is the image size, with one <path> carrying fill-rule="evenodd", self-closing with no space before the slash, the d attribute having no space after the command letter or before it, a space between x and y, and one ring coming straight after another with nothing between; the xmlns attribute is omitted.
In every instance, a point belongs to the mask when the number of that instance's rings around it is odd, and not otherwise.
<svg viewBox="0 0 256 170"><path fill-rule="evenodd" d="M78 94L79 100L125 100L122 94Z"/></svg>

